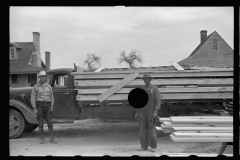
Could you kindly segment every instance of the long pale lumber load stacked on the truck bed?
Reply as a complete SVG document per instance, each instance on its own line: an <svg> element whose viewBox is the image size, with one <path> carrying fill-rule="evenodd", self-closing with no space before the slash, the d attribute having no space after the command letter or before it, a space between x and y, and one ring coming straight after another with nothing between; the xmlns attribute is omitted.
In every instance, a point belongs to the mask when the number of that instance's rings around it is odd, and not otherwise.
<svg viewBox="0 0 240 160"><path fill-rule="evenodd" d="M152 85L158 87L164 101L232 101L233 69L209 70L136 70L139 74L129 83L120 86L124 79L133 74L128 71L73 72L74 85L78 92L76 99L81 103L99 103L99 97L108 102L128 100L128 94L134 88L144 86L142 77L150 74ZM118 86L117 86L118 85ZM114 88L115 87L115 88ZM112 89L108 96L103 94ZM110 92L109 92L110 93Z"/></svg>

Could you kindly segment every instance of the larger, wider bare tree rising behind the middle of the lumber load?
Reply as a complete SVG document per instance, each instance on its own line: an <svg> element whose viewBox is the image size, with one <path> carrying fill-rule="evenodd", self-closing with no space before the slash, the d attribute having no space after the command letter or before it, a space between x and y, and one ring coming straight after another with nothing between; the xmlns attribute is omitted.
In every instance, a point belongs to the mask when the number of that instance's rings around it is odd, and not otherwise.
<svg viewBox="0 0 240 160"><path fill-rule="evenodd" d="M130 68L137 68L137 63L144 63L143 56L137 50L132 50L128 55L126 55L126 51L120 51L117 60L119 64L122 62L127 63Z"/></svg>

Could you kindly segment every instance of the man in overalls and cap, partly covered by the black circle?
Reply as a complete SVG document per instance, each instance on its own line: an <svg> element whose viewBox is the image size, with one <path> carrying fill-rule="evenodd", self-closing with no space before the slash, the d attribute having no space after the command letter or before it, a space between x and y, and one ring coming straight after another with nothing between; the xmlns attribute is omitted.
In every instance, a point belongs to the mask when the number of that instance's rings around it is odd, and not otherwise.
<svg viewBox="0 0 240 160"><path fill-rule="evenodd" d="M140 121L140 151L147 150L151 147L151 152L156 152L157 148L157 130L155 128L154 119L157 118L158 110L160 109L160 95L156 86L153 86L150 81L152 77L145 74L143 81L145 86L142 88L148 93L147 105L141 109L137 109L135 118Z"/></svg>

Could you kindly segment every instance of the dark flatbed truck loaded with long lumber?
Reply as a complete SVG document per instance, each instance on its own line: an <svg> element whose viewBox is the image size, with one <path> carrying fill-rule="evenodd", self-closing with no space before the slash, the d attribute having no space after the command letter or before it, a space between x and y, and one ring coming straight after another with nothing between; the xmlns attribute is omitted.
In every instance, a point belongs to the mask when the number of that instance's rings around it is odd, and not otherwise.
<svg viewBox="0 0 240 160"><path fill-rule="evenodd" d="M137 77L116 89L127 76ZM233 69L193 69L184 71L156 67L142 69L104 69L100 72L78 71L72 68L46 72L55 99L53 123L73 123L89 118L134 118L136 108L128 103L127 95L142 87L143 74L151 74L152 84L161 96L159 117L190 115L193 112L214 113L233 101ZM112 93L103 96L111 89ZM31 106L32 87L10 88L9 138L38 127ZM102 95L102 101L99 97ZM164 133L159 133L159 136Z"/></svg>

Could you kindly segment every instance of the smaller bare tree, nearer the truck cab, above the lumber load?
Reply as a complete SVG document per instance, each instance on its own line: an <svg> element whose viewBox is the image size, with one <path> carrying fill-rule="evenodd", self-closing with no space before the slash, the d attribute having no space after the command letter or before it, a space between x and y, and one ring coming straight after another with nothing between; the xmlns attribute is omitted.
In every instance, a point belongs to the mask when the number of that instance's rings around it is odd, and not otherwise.
<svg viewBox="0 0 240 160"><path fill-rule="evenodd" d="M96 56L95 53L87 54L87 60L84 60L84 65L87 64L87 69L89 71L94 71L97 69L96 64L100 65L101 58Z"/></svg>

